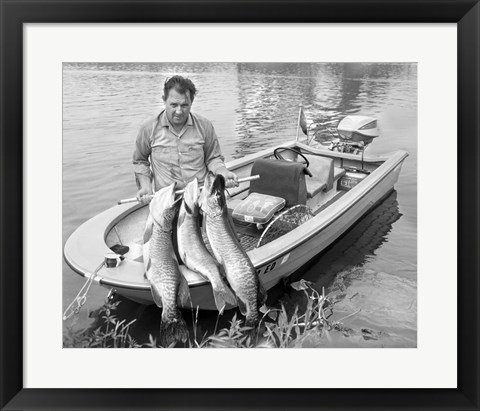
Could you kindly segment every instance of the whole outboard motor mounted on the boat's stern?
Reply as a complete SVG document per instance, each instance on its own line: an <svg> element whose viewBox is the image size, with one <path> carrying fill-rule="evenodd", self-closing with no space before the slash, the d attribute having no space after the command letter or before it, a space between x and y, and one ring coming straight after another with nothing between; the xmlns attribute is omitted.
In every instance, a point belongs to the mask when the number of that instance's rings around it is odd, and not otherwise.
<svg viewBox="0 0 480 411"><path fill-rule="evenodd" d="M338 141L331 150L358 154L380 135L377 120L367 116L346 116L337 126Z"/></svg>

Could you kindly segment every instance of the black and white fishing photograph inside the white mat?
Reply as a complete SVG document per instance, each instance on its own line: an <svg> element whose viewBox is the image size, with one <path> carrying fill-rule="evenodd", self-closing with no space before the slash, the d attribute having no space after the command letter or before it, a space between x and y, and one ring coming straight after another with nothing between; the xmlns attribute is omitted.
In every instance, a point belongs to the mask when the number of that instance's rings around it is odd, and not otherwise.
<svg viewBox="0 0 480 411"><path fill-rule="evenodd" d="M416 348L416 62L64 62L63 348Z"/></svg>

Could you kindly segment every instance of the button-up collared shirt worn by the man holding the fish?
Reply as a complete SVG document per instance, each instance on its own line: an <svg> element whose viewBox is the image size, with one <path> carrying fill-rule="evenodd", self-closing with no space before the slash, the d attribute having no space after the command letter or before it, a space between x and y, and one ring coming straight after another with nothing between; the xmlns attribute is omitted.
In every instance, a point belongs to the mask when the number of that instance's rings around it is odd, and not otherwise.
<svg viewBox="0 0 480 411"><path fill-rule="evenodd" d="M177 133L165 111L145 123L137 136L133 153L135 175L148 176L155 191L176 182L184 188L195 177L199 182L208 171L216 173L224 167L217 135L212 123L190 113L182 130ZM138 179L137 179L138 183Z"/></svg>

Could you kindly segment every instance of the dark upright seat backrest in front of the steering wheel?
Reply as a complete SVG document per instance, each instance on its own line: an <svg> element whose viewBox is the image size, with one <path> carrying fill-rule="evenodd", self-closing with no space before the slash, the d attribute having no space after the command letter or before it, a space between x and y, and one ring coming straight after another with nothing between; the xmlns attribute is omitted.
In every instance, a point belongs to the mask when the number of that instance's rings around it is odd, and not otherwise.
<svg viewBox="0 0 480 411"><path fill-rule="evenodd" d="M306 204L305 170L304 164L294 161L258 159L251 174L259 174L260 178L250 183L250 193L284 198L287 207Z"/></svg>

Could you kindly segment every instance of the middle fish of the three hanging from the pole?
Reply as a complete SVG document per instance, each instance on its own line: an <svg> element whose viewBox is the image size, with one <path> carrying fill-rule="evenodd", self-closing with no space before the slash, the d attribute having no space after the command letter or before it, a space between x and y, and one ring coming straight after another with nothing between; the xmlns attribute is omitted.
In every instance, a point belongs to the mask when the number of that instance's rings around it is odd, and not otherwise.
<svg viewBox="0 0 480 411"><path fill-rule="evenodd" d="M212 257L200 228L200 189L195 178L187 184L177 221L178 253L187 268L197 272L212 284L215 305L220 314L227 304L235 306L236 298L224 281L222 266Z"/></svg>

